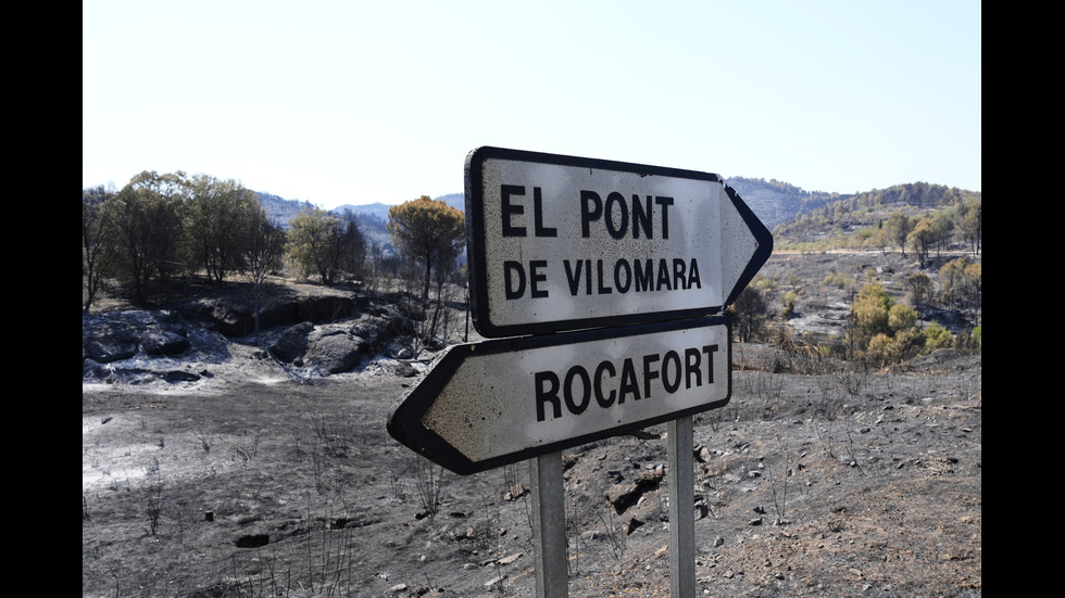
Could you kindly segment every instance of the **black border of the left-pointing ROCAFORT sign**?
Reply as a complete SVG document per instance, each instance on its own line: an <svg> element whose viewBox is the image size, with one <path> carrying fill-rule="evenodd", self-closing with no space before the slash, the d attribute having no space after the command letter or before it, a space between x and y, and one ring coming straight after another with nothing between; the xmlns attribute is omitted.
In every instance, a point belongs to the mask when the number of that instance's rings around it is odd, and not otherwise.
<svg viewBox="0 0 1065 598"><path fill-rule="evenodd" d="M534 348L551 346L564 346L582 342L600 341L605 339L622 339L626 336L639 336L657 332L672 332L675 330L691 330L697 328L725 326L726 355L727 358L727 389L725 398L673 411L671 413L649 418L646 420L626 423L616 428L611 428L592 434L585 434L566 438L551 444L536 446L524 450L501 455L484 461L472 461L465 455L451 446L436 432L425 428L422 418L433 407L439 396L440 389L443 389L451 378L459 371L459 366L467 356L476 353L477 355L491 355L497 353L517 353ZM715 382L716 383L716 382ZM496 469L510 463L515 463L541 455L547 455L566 448L573 448L602 438L635 432L643 428L665 423L677 418L693 416L711 409L725 407L732 396L732 326L726 316L710 316L688 320L671 320L653 322L622 328L602 328L592 330L581 330L577 332L565 332L560 334L546 334L538 336L517 336L511 339L499 339L481 341L477 343L465 343L451 346L448 352L434 364L428 373L414 386L406 395L400 398L392 406L388 413L388 433L401 444L422 455L426 459L447 468L461 475L469 475Z"/></svg>

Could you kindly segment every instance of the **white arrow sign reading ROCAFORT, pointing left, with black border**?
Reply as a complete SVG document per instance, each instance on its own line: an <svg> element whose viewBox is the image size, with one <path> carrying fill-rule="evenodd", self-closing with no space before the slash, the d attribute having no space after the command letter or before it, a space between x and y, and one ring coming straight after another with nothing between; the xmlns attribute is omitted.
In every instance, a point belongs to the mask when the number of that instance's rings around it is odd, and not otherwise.
<svg viewBox="0 0 1065 598"><path fill-rule="evenodd" d="M724 407L724 316L454 345L392 406L388 432L476 473Z"/></svg>

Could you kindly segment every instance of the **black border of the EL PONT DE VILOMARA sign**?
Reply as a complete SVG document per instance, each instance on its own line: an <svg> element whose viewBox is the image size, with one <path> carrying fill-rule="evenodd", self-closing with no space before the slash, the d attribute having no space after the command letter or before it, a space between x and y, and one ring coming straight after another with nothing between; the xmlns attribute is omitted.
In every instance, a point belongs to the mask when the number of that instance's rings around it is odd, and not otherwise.
<svg viewBox="0 0 1065 598"><path fill-rule="evenodd" d="M580 168L591 168L598 170L611 170L621 173L634 173L637 175L654 175L671 178L694 179L711 182L724 180L713 173L702 173L698 170L686 170L680 168L667 168L661 166L649 166L644 164L631 164L627 162L614 162L609 160L597 160L588 157L577 157L561 154L548 154L541 152L530 152L523 150L509 150L505 148L481 147L473 150L466 156L465 164L465 218L466 218L466 246L468 247L468 276L471 288L471 313L474 319L474 328L483 336L488 339L499 339L505 336L517 336L524 334L550 334L587 328L628 326L635 323L646 323L661 320L690 319L724 311L725 307L736 301L740 291L748 285L754 275L762 268L762 265L773 253L773 236L765 228L765 225L755 216L754 212L740 199L739 194L731 187L724 185L725 190L743 218L748 228L754 234L757 249L747 268L740 276L739 281L729 291L724 305L699 307L691 309L675 309L667 311L652 311L643 314L627 314L619 316L605 316L597 318L580 318L572 320L559 320L550 322L528 322L519 325L496 325L491 321L488 305L488 277L485 221L485 195L484 195L484 163L488 160L508 160L514 162L526 162L532 164L551 164L559 166L574 166Z"/></svg>

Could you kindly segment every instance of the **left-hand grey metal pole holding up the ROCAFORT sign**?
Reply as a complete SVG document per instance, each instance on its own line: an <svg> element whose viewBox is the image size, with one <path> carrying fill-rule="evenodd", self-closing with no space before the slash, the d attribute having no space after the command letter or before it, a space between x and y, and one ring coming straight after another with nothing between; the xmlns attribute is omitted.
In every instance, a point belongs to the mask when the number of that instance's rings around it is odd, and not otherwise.
<svg viewBox="0 0 1065 598"><path fill-rule="evenodd" d="M532 486L536 595L538 598L566 598L569 596L569 580L566 571L566 506L562 453L550 453L530 459L529 483Z"/></svg>

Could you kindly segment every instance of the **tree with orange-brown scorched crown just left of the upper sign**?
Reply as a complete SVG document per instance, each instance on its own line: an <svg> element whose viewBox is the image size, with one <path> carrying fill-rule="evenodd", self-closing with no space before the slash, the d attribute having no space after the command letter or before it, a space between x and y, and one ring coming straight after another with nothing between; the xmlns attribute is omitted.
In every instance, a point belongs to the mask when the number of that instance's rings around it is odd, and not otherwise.
<svg viewBox="0 0 1065 598"><path fill-rule="evenodd" d="M424 268L422 300L427 301L433 269L453 264L462 252L465 217L447 202L422 195L389 208L388 231L396 246Z"/></svg>

